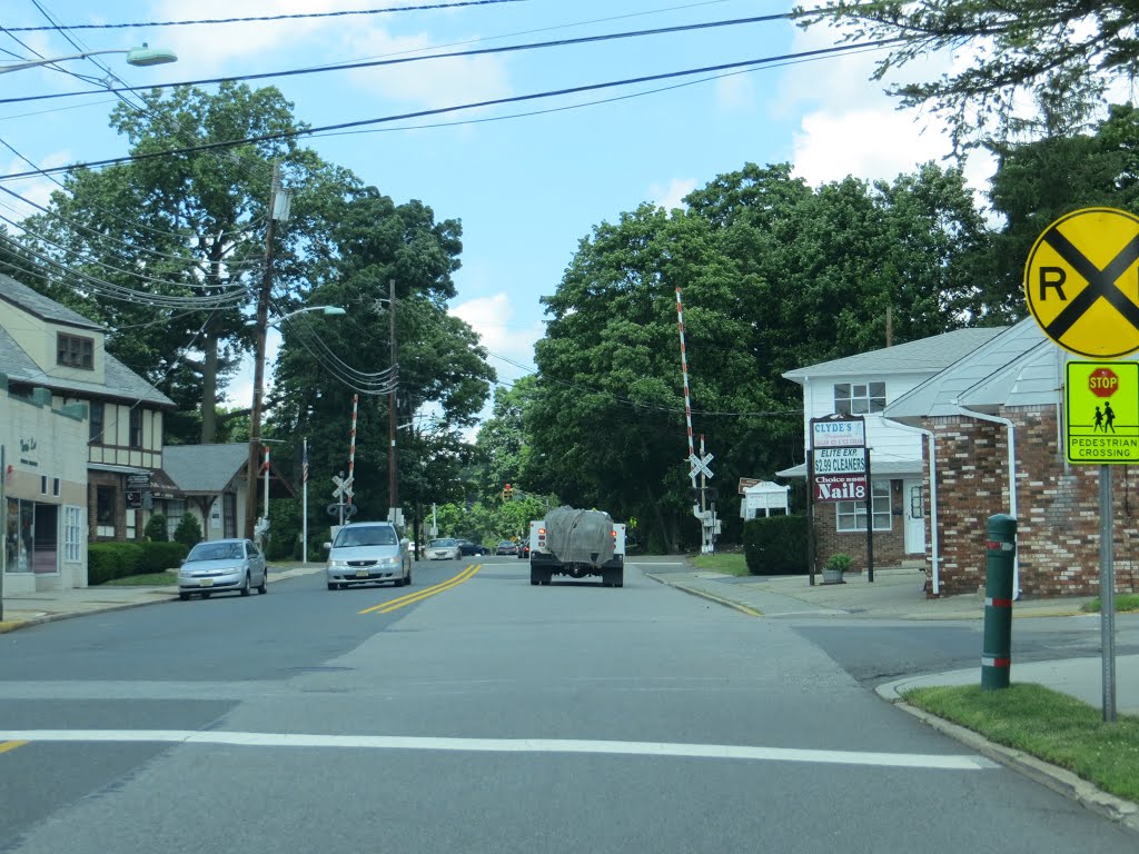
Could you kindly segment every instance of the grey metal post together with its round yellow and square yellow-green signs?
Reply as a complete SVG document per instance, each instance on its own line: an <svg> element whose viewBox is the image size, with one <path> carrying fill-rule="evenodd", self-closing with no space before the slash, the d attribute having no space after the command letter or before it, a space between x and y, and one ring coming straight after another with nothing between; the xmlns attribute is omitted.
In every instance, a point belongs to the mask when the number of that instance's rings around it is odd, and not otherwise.
<svg viewBox="0 0 1139 854"><path fill-rule="evenodd" d="M1024 268L1032 317L1051 340L1090 359L1139 350L1139 217L1112 207L1073 211L1036 238ZM1126 277L1126 278L1125 278ZM1070 362L1068 462L1099 465L1099 601L1104 721L1115 721L1115 551L1112 465L1139 460L1139 375L1133 362ZM1011 488L1011 487L1010 487Z"/></svg>

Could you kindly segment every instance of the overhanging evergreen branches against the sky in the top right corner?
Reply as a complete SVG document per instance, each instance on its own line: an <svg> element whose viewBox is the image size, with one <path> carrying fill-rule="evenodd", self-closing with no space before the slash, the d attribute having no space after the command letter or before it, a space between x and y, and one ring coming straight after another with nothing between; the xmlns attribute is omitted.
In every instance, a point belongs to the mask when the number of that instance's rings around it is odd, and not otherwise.
<svg viewBox="0 0 1139 854"><path fill-rule="evenodd" d="M1139 73L1136 0L829 0L797 7L802 25L833 23L843 41L894 40L875 79L943 49L970 49L972 65L892 91L944 115L958 146L1017 128L1017 96L1057 102L1095 98Z"/></svg>

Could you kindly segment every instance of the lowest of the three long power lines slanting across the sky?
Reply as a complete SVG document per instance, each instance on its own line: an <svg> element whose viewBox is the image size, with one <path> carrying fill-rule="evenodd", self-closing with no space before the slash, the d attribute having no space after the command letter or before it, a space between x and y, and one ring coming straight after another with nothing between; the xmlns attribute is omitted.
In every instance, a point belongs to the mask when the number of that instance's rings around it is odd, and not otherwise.
<svg viewBox="0 0 1139 854"><path fill-rule="evenodd" d="M688 68L686 71L679 72L666 72L664 74L648 74L640 77L626 77L624 80L609 81L605 83L589 83L579 87L567 87L565 89L554 89L547 90L544 92L533 92L531 95L516 95L509 98L493 98L484 101L474 101L470 104L460 104L451 107L437 107L435 109L420 109L412 113L399 113L390 116L380 116L378 118L362 118L355 122L341 122L338 124L322 125L319 128L304 128L294 131L281 131L279 133L264 133L257 137L246 137L244 139L227 140L222 142L206 142L198 146L187 146L183 148L170 148L162 151L149 151L146 154L126 155L124 157L109 157L103 161L90 161L88 163L77 163L69 166L54 166L47 170L38 170L35 172L16 172L13 174L3 175L0 180L14 180L17 178L31 178L36 175L47 175L57 172L69 172L76 169L95 169L97 166L110 166L120 163L132 163L139 161L156 159L158 157L171 157L181 154L192 154L195 151L208 151L208 150L220 150L223 148L235 148L237 146L245 146L253 142L271 142L284 139L295 139L297 137L309 137L319 133L327 133L329 131L341 131L347 130L350 128L362 128L371 124L386 124L388 122L398 122L405 118L420 118L423 116L435 116L443 115L445 113L457 113L466 109L480 109L483 107L500 106L503 104L519 104L524 101L539 100L543 98L556 98L565 95L577 95L581 92L592 92L603 89L613 89L623 85L633 85L636 83L649 83L657 80L671 80L675 77L690 76L693 74L707 74L716 71L728 71L731 68L746 68L759 65L772 65L781 61L787 61L789 59L803 59L806 57L822 57L827 55L835 54L852 54L860 52L867 49L880 48L887 44L892 44L903 39L879 39L872 42L861 42L857 44L839 44L831 48L819 48L817 50L806 50L797 54L784 54L773 57L763 57L760 59L744 59L737 63L723 63L721 65L710 65L700 68Z"/></svg>

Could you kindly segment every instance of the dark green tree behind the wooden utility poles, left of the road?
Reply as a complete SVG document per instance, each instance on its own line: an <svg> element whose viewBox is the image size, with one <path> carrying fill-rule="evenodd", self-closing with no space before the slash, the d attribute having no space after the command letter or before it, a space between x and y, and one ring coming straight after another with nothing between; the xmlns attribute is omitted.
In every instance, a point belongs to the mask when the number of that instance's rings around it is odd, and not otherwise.
<svg viewBox="0 0 1139 854"><path fill-rule="evenodd" d="M323 199L329 223L313 247L312 304L347 314L303 314L285 325L267 400L268 430L309 438L311 478L329 483L349 468L353 397L357 403L355 503L360 518L385 518L390 504L390 391L398 383L395 422L400 504L421 522L434 502L465 498L474 455L465 432L490 394L494 371L474 330L446 312L454 296L461 227L435 221L420 202L396 205L376 188ZM392 372L391 284L395 282L398 370ZM421 426L431 414L433 425ZM404 425L416 426L409 432ZM323 508L313 508L326 524ZM412 519L408 519L409 523ZM419 529L419 525L416 525Z"/></svg>

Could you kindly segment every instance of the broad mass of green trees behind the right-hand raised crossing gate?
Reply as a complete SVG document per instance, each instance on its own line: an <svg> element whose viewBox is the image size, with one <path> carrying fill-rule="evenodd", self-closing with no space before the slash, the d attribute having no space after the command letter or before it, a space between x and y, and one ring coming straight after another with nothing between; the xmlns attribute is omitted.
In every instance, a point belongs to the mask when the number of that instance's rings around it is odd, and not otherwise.
<svg viewBox="0 0 1139 854"><path fill-rule="evenodd" d="M718 484L802 462L800 389L785 371L999 319L1002 307L966 263L985 232L954 170L811 188L786 164L747 164L686 202L671 214L642 205L581 241L543 298L540 375L522 410L523 482L636 516L669 549L698 536L678 288L694 428ZM726 519L735 501L721 494Z"/></svg>

